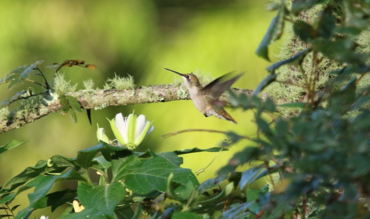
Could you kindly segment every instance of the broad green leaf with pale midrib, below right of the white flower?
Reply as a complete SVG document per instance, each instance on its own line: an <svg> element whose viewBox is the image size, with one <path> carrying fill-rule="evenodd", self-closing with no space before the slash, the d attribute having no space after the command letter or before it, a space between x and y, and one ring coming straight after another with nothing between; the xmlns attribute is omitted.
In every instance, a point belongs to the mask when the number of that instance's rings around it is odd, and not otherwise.
<svg viewBox="0 0 370 219"><path fill-rule="evenodd" d="M184 189L188 181L195 186L199 185L190 169L180 168L161 157L150 158L139 168L127 172L125 184L139 194L147 194L153 190L165 192L170 173L174 173L172 181L180 185L175 191Z"/></svg>

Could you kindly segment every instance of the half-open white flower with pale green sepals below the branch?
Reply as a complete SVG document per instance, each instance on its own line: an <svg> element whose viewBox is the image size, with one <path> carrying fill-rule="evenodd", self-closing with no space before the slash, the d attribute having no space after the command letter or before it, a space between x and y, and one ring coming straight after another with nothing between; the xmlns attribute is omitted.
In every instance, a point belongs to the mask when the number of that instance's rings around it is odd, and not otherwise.
<svg viewBox="0 0 370 219"><path fill-rule="evenodd" d="M144 138L153 131L154 125L152 122L145 120L145 115L129 114L128 117L123 117L122 113L115 116L110 121L111 128L117 141L124 147L129 149L137 148Z"/></svg>

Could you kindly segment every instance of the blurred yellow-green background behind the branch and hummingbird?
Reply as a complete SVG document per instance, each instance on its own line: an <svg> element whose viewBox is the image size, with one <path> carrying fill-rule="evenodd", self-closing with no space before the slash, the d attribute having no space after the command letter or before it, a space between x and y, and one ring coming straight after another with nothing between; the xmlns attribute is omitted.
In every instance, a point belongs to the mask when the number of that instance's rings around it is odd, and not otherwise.
<svg viewBox="0 0 370 219"><path fill-rule="evenodd" d="M45 68L46 65L81 59L97 65L97 69L72 67L60 71L71 83L78 83L78 89L83 89L82 81L87 78L92 78L95 86L102 88L104 81L114 77L115 73L133 75L138 87L181 81L178 75L163 68L181 73L201 72L212 79L230 71L245 71L233 86L254 89L265 77L264 69L269 65L254 54L275 14L265 10L266 3L268 0L1 0L0 77L4 78L6 73L20 65L45 60L40 68L51 80L53 71ZM23 86L10 91L6 85L0 86L1 100L31 85ZM40 159L53 155L73 158L78 150L97 144L97 123L113 138L105 118L113 118L119 112L127 115L132 110L154 120L155 125L154 132L139 151L148 148L155 152L210 148L224 138L207 132L160 137L189 128L233 130L249 136L256 132L252 123L253 112L226 107L238 121L238 124L233 124L215 117L205 118L191 101L92 110L92 126L85 113L78 114L77 124L72 123L68 115L52 114L0 135L0 145L11 139L30 140L0 156L0 185ZM221 153L198 176L199 181L215 176L235 151L248 144L241 141L231 151ZM183 167L198 171L214 156L211 153L184 156ZM59 186L75 188L76 185ZM26 194L24 200L14 203L18 202L23 207L27 205ZM51 218L58 215L48 211L34 212L37 217L41 214Z"/></svg>

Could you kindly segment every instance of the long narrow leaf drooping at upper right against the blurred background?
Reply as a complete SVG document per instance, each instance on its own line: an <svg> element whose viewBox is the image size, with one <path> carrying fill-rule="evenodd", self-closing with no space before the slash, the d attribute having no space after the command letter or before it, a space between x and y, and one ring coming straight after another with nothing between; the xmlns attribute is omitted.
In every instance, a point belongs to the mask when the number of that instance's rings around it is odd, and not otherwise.
<svg viewBox="0 0 370 219"><path fill-rule="evenodd" d="M256 55L267 61L270 61L268 55L268 46L281 37L284 28L284 18L286 15L287 10L285 5L282 3L277 11L277 15L272 19L265 36L259 44L256 50Z"/></svg>

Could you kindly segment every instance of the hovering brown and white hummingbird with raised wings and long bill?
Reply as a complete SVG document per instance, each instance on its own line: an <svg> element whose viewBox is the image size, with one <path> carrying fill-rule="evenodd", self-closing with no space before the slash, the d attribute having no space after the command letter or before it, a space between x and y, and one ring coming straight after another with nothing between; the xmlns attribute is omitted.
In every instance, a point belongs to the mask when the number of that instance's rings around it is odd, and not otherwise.
<svg viewBox="0 0 370 219"><path fill-rule="evenodd" d="M198 77L195 74L181 74L177 71L170 70L165 68L165 70L172 71L184 79L185 87L188 88L190 98L194 102L195 107L205 116L215 116L220 119L227 119L229 121L236 121L226 112L226 110L219 106L218 98L220 95L228 89L236 80L238 80L243 74L236 75L231 77L231 73L222 75L219 78L216 78L211 83L202 87L199 83Z"/></svg>

